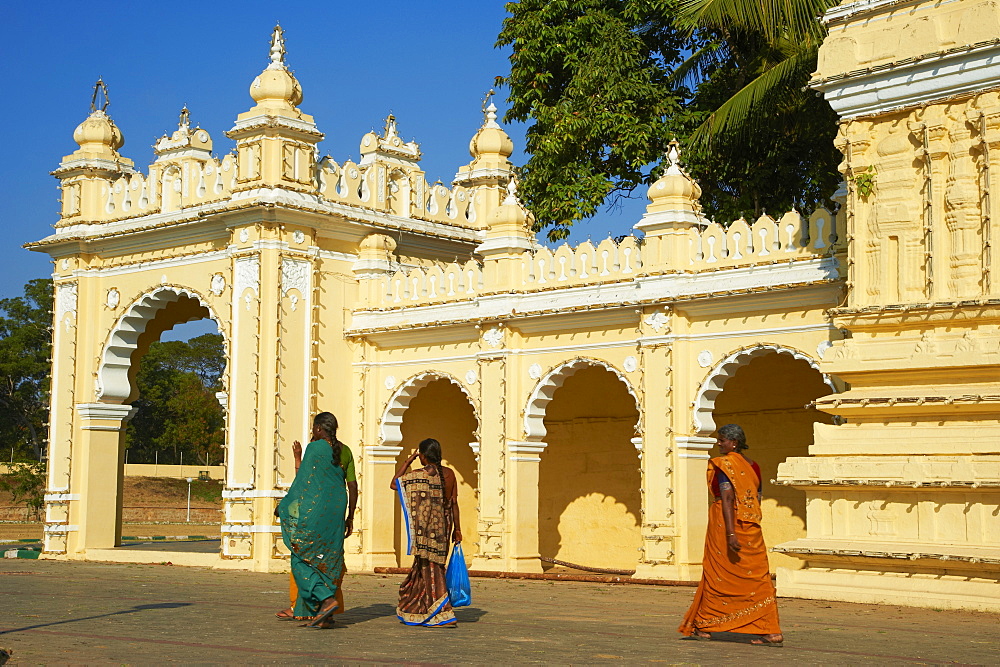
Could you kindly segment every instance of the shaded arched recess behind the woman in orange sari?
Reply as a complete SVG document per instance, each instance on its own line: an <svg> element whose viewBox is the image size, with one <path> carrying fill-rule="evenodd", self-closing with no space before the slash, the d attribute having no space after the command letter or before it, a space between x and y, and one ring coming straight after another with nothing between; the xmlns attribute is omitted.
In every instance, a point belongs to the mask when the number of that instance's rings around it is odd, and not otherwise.
<svg viewBox="0 0 1000 667"><path fill-rule="evenodd" d="M771 484L786 458L807 456L813 442L813 424L832 423L833 416L811 401L833 391L828 380L805 357L768 350L743 359L715 399L715 427L739 424L747 435L747 456L760 466L764 487L761 528L768 546L805 537L805 492ZM785 554L768 554L772 570L801 567Z"/></svg>

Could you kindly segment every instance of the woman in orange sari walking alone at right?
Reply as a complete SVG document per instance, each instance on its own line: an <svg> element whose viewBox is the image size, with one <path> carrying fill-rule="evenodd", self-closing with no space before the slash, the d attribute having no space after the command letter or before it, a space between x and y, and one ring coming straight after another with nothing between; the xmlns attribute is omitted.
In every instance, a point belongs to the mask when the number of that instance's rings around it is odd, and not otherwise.
<svg viewBox="0 0 1000 667"><path fill-rule="evenodd" d="M715 498L708 510L701 583L678 631L696 639L712 632L759 637L758 646L781 646L778 604L760 530L760 468L743 456L746 435L736 424L719 429L722 456L708 464Z"/></svg>

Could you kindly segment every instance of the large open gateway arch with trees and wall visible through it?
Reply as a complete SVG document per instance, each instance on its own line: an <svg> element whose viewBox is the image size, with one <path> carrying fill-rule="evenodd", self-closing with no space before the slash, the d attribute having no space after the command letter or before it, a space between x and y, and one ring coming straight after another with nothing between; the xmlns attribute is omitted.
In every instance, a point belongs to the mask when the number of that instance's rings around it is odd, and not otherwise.
<svg viewBox="0 0 1000 667"><path fill-rule="evenodd" d="M120 434L117 521L118 535L139 539L119 540L125 548L154 548L142 538L155 536L167 538L158 551L219 550L227 356L213 313L179 288L144 295L111 333L101 399L133 408Z"/></svg>

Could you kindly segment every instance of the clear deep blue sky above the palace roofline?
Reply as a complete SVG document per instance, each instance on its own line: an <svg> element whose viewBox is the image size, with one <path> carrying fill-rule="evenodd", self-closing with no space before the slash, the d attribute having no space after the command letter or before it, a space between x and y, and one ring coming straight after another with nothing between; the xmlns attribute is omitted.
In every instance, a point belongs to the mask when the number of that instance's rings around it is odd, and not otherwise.
<svg viewBox="0 0 1000 667"><path fill-rule="evenodd" d="M469 160L480 101L508 53L493 47L506 16L498 0L431 3L11 3L3 58L7 102L0 105L0 298L49 275L48 256L21 244L51 233L57 182L49 172L76 149L73 130L103 77L108 109L125 136L122 154L147 171L152 143L177 127L185 104L193 123L223 132L252 106L250 82L267 65L271 28L285 29L287 61L316 118L320 145L338 162L358 159L361 136L391 111L400 134L421 144L428 179L450 182ZM497 105L506 109L505 91ZM524 128L507 128L520 154ZM581 223L571 242L628 233L645 208L636 199Z"/></svg>

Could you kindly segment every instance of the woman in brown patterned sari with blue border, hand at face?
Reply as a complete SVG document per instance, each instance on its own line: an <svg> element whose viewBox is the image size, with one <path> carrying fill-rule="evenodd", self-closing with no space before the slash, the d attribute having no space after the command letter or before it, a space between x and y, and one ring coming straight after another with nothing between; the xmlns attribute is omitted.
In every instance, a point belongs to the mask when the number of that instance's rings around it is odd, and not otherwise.
<svg viewBox="0 0 1000 667"><path fill-rule="evenodd" d="M406 472L420 457L423 466ZM399 586L396 616L406 625L454 627L458 621L448 598L445 563L449 538L462 541L458 515L458 480L441 465L441 443L428 438L399 464L390 485L403 505L413 566Z"/></svg>

